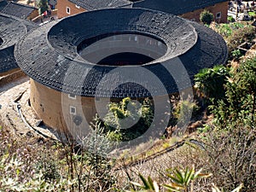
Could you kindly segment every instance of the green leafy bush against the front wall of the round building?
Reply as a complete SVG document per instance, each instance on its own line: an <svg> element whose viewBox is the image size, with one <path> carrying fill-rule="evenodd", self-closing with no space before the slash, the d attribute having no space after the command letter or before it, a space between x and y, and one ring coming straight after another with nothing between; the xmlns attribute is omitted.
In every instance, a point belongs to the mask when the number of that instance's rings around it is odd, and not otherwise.
<svg viewBox="0 0 256 192"><path fill-rule="evenodd" d="M103 118L104 131L115 141L130 141L147 131L153 118L152 103L148 99L140 103L126 97L119 103L109 104Z"/></svg>

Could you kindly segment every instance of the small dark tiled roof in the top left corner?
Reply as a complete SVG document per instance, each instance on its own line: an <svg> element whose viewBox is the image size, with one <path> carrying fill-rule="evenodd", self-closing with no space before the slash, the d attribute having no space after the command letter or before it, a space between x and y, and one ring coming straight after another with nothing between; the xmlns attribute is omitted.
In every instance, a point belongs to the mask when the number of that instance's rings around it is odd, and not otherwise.
<svg viewBox="0 0 256 192"><path fill-rule="evenodd" d="M15 17L25 20L29 15L32 14L34 10L36 10L36 8L32 6L10 2L5 6L5 8L1 12L3 14L13 15Z"/></svg>

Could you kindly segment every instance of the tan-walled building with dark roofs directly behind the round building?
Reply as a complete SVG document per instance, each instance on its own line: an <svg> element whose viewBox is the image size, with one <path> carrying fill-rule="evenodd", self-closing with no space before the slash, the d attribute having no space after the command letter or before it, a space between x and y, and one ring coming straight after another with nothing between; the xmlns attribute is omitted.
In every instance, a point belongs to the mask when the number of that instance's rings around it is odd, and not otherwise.
<svg viewBox="0 0 256 192"><path fill-rule="evenodd" d="M204 9L214 15L219 23L227 22L229 1L227 0L58 0L58 18L76 15L84 11L104 8L144 8L160 10L185 19L200 21Z"/></svg>

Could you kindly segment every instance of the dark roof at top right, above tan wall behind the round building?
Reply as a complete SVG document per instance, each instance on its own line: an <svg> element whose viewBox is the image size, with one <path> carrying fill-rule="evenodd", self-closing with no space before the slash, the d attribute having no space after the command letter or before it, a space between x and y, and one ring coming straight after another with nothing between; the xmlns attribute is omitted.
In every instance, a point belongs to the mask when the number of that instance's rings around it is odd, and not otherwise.
<svg viewBox="0 0 256 192"><path fill-rule="evenodd" d="M197 9L204 9L227 0L143 0L133 4L134 8L160 10L173 15L183 15Z"/></svg>

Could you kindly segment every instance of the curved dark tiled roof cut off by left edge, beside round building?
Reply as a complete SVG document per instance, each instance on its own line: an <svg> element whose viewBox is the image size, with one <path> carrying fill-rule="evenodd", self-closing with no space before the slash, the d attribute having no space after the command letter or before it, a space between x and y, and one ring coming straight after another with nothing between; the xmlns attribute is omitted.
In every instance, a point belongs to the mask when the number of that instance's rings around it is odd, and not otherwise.
<svg viewBox="0 0 256 192"><path fill-rule="evenodd" d="M35 27L30 21L0 14L0 73L17 68L14 49L19 39Z"/></svg>

